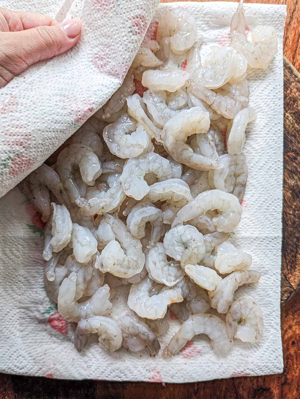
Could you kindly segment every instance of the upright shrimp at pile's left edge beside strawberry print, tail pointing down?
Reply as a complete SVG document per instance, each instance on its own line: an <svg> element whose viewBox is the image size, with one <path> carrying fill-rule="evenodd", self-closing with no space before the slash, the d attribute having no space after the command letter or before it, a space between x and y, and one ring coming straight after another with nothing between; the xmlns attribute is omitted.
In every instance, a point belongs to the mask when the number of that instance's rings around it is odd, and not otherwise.
<svg viewBox="0 0 300 399"><path fill-rule="evenodd" d="M45 229L45 247L43 257L49 261L52 257L52 251L59 252L65 248L70 240L73 230L73 223L70 212L65 205L57 205L51 202L53 213L48 225ZM51 227L50 227L51 226ZM48 236L49 231L49 236Z"/></svg>

